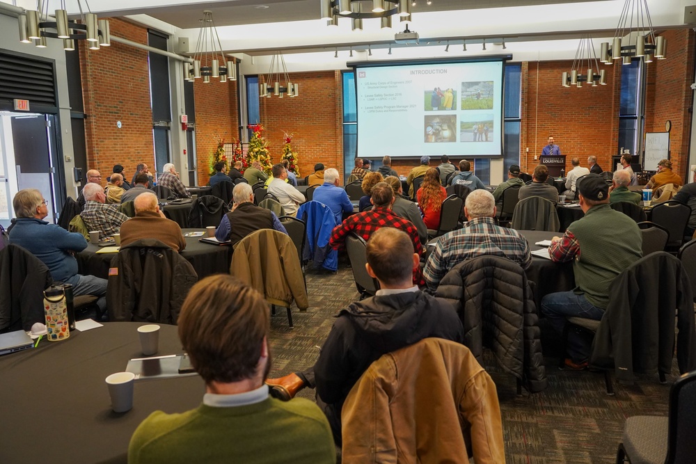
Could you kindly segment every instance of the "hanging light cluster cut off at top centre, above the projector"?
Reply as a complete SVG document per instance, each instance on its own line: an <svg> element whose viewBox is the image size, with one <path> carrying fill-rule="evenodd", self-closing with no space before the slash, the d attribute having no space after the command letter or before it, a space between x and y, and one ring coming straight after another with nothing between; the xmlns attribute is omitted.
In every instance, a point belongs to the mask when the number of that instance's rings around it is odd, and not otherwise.
<svg viewBox="0 0 696 464"><path fill-rule="evenodd" d="M362 31L363 19L381 18L381 27L391 28L392 17L400 22L411 22L411 0L321 0L322 19L329 19L329 26L338 26L338 18L349 17L353 30ZM369 6L363 8L363 3Z"/></svg>

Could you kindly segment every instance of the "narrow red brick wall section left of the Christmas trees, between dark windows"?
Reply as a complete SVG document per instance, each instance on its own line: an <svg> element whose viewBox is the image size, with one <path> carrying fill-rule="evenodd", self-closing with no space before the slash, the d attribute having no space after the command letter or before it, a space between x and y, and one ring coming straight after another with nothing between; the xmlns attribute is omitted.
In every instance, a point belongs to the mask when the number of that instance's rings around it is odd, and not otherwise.
<svg viewBox="0 0 696 464"><path fill-rule="evenodd" d="M193 99L196 105L196 157L198 162L198 185L208 182L213 154L219 139L232 143L239 138L237 105L237 83L203 79L193 82ZM231 153L227 154L231 157Z"/></svg>

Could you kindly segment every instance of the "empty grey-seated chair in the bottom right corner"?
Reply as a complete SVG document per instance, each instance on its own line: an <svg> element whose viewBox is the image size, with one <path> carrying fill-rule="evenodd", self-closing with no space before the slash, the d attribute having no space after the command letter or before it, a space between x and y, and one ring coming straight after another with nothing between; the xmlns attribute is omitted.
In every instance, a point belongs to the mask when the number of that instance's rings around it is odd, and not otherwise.
<svg viewBox="0 0 696 464"><path fill-rule="evenodd" d="M626 419L616 463L678 464L696 456L696 372L677 379L670 388L667 417L633 416Z"/></svg>

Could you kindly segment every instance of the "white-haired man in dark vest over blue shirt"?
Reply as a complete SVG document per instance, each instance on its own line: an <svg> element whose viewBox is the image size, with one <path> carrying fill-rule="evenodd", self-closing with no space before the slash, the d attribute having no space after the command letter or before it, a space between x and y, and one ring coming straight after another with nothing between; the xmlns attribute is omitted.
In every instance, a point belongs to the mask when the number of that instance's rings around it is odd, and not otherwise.
<svg viewBox="0 0 696 464"><path fill-rule="evenodd" d="M235 200L232 211L222 216L222 221L215 231L215 238L219 241L230 240L232 245L235 245L251 232L261 229L274 229L287 235L285 227L273 211L254 205L251 185L235 185L232 199Z"/></svg>

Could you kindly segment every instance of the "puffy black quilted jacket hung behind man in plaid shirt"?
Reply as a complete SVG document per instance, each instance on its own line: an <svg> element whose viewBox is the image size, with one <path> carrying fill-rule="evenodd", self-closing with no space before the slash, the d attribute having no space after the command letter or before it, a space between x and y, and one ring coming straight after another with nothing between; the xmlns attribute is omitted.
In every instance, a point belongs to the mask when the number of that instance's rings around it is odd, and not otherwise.
<svg viewBox="0 0 696 464"><path fill-rule="evenodd" d="M482 365L487 346L530 392L546 388L537 308L519 264L488 255L467 259L445 275L436 296L457 308L464 344Z"/></svg>

